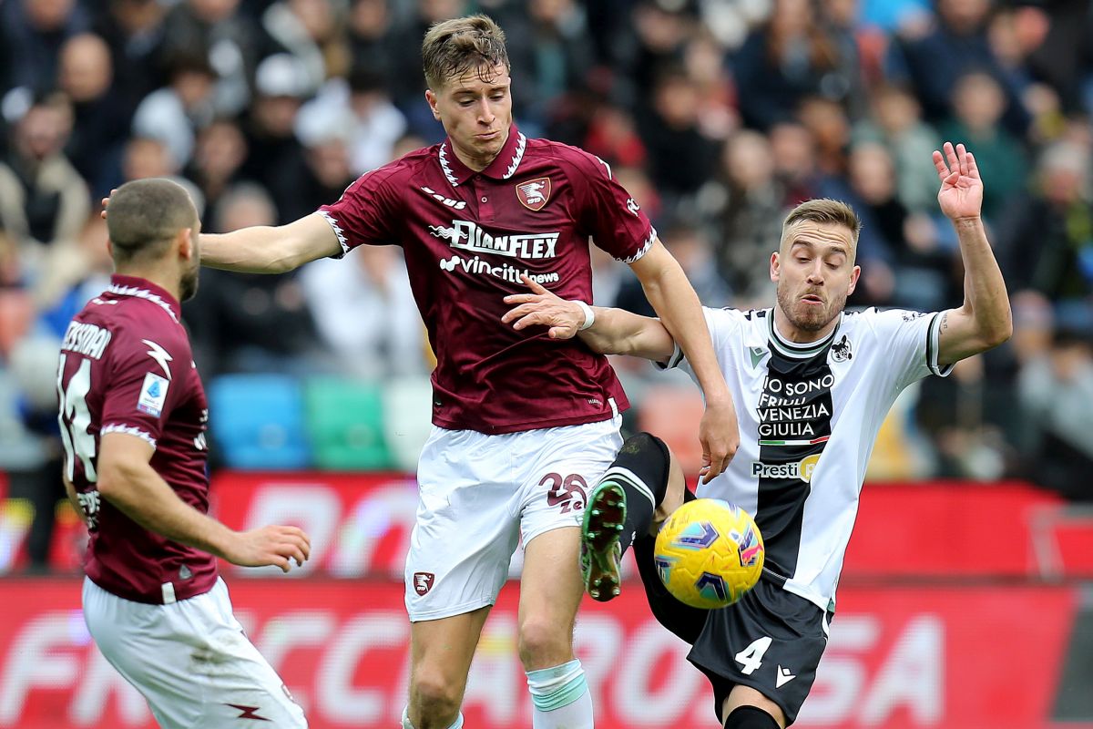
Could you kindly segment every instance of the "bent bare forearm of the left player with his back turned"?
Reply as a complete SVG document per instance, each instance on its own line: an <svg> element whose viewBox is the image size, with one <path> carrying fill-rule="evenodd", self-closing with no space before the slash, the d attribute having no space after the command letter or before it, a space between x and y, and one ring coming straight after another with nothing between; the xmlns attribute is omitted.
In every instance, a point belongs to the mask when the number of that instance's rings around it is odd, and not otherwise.
<svg viewBox="0 0 1093 729"><path fill-rule="evenodd" d="M143 438L107 433L99 442L98 493L140 526L245 567L277 565L284 572L310 554L310 540L296 527L234 531L184 502L149 461Z"/></svg>

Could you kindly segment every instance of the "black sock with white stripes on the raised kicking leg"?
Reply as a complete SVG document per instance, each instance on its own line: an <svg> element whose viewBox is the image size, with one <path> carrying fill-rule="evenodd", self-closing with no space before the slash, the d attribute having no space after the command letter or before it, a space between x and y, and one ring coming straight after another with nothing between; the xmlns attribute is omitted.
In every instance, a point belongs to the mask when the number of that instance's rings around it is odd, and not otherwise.
<svg viewBox="0 0 1093 729"><path fill-rule="evenodd" d="M671 455L665 443L648 433L626 438L600 483L613 481L626 494L626 522L619 543L625 552L635 538L648 533L653 512L665 501Z"/></svg>

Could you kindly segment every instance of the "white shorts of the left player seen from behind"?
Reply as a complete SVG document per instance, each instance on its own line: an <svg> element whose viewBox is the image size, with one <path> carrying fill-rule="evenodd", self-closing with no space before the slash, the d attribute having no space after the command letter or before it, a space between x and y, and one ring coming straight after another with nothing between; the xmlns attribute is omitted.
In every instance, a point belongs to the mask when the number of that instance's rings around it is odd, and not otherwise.
<svg viewBox="0 0 1093 729"><path fill-rule="evenodd" d="M304 710L232 614L222 579L203 595L155 605L84 578L83 615L99 651L141 692L164 729L263 719L268 727L307 727Z"/></svg>

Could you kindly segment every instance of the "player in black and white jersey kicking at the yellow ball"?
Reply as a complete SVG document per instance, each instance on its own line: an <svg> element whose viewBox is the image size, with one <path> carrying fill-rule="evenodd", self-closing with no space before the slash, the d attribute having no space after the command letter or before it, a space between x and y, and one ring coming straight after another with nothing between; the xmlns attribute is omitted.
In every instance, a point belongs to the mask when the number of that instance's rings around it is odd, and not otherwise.
<svg viewBox="0 0 1093 729"><path fill-rule="evenodd" d="M776 729L797 718L827 644L835 587L857 516L866 465L900 392L928 375L1006 341L1012 330L1006 283L979 217L983 183L963 144L935 152L938 202L964 258L964 304L931 314L845 313L858 282L860 223L834 200L810 200L787 216L771 256L773 308L706 309L718 362L739 404L741 443L729 468L698 489L752 514L766 561L759 584L728 608L704 611L677 601L653 558L657 524L694 496L665 444L630 438L589 495L583 543L592 558L585 579L597 599L618 584L619 555L634 541L649 605L693 647L710 680L726 729ZM504 317L520 330L579 333L592 350L659 363L690 363L660 321L579 305L528 281L531 294L507 297ZM656 510L655 510L656 509Z"/></svg>

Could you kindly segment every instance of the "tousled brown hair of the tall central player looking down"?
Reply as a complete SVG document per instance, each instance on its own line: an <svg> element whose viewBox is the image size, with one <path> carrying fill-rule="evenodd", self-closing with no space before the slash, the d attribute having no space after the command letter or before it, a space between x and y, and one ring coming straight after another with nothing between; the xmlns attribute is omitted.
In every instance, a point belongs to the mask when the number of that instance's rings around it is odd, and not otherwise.
<svg viewBox="0 0 1093 729"><path fill-rule="evenodd" d="M433 91L449 79L478 70L483 81L492 79L495 66L512 70L505 32L489 15L469 15L434 23L421 44L425 83Z"/></svg>

